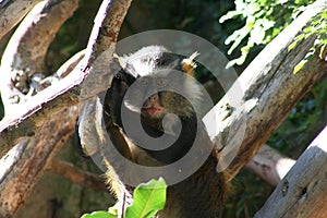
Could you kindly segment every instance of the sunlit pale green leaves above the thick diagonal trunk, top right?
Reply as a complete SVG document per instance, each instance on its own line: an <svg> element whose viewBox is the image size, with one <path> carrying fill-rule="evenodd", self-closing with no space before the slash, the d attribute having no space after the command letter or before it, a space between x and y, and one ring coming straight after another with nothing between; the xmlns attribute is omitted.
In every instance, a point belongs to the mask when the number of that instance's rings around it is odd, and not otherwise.
<svg viewBox="0 0 327 218"><path fill-rule="evenodd" d="M228 53L233 52L242 41L246 45L241 48L241 56L228 64L243 64L250 50L256 45L266 45L271 41L292 20L313 0L235 0L235 10L220 17L219 22L243 19L245 24L237 29L227 39L231 45Z"/></svg>

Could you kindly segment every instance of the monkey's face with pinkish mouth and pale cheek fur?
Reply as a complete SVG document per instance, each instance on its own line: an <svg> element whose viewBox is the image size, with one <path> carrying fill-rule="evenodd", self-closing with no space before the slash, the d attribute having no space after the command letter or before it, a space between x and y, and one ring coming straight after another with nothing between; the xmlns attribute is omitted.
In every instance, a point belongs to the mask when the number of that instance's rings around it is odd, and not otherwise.
<svg viewBox="0 0 327 218"><path fill-rule="evenodd" d="M194 80L194 78L193 78ZM124 105L146 119L161 120L166 114L190 117L199 105L198 85L175 70L160 70L138 77L129 88Z"/></svg>

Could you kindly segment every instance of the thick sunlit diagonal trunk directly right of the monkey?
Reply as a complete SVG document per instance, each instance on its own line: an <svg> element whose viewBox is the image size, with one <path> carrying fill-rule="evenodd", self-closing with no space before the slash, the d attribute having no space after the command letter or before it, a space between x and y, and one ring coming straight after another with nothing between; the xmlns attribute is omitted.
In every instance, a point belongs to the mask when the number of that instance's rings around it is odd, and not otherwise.
<svg viewBox="0 0 327 218"><path fill-rule="evenodd" d="M292 73L312 47L313 38L303 40L288 52L288 46L301 29L324 10L326 5L315 3L303 12L257 56L215 106L214 110L218 111L227 105L238 109L220 123L221 132L216 137L217 146L226 145L223 166L229 166L231 177L253 158L312 85L326 75L327 62L317 56L299 73ZM205 118L208 125L211 117L213 113L208 113ZM235 146L238 144L240 147ZM233 152L237 158L233 158Z"/></svg>

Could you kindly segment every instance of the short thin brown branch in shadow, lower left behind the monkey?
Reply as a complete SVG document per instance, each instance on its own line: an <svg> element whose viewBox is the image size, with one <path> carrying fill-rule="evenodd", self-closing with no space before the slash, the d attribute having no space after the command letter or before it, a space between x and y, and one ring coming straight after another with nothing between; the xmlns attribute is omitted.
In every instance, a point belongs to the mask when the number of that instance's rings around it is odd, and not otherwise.
<svg viewBox="0 0 327 218"><path fill-rule="evenodd" d="M96 190L107 190L104 181L99 175L85 172L63 160L58 160L56 158L52 159L48 169L51 172L69 179L70 181L75 182L82 186Z"/></svg>

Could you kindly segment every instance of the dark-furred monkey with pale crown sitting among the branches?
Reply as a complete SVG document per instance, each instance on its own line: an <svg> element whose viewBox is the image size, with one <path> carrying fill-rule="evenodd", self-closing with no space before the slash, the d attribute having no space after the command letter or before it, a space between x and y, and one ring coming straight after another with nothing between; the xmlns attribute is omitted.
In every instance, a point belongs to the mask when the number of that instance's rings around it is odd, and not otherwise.
<svg viewBox="0 0 327 218"><path fill-rule="evenodd" d="M186 172L191 170L187 166L198 165L195 172L168 186L167 203L158 218L219 217L229 190L226 172L216 170L220 157L202 122L203 89L193 77L197 56L195 52L183 58L162 46L144 47L123 57L116 55L121 69L102 102L106 130L124 158L145 167L162 167L191 153L186 167L177 170ZM148 143L141 131L164 140ZM201 156L205 150L207 155ZM133 187L120 177L131 172L114 161L112 155L105 161L108 184L119 202L129 203L126 196L132 195ZM174 178L178 173L168 175Z"/></svg>

